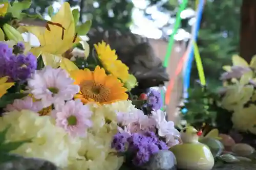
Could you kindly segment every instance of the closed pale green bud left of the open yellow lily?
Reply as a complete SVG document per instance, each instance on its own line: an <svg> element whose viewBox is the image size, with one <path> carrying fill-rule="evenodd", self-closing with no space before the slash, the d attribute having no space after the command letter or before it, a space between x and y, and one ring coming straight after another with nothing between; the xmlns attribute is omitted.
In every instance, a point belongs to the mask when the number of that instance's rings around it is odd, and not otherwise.
<svg viewBox="0 0 256 170"><path fill-rule="evenodd" d="M3 30L8 39L14 40L15 42L24 41L22 34L20 34L15 28L5 23Z"/></svg>

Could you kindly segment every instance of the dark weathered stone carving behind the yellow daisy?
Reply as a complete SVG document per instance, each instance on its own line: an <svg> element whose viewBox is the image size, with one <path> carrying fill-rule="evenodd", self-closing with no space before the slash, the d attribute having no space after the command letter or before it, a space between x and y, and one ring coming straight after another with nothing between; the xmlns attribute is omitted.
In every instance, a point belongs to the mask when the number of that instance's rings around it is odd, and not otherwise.
<svg viewBox="0 0 256 170"><path fill-rule="evenodd" d="M118 30L102 29L91 29L88 37L91 48L93 44L103 40L116 50L118 59L129 67L129 72L139 82L134 93L145 92L145 89L162 85L169 80L161 60L156 57L147 38L131 32L121 33Z"/></svg>

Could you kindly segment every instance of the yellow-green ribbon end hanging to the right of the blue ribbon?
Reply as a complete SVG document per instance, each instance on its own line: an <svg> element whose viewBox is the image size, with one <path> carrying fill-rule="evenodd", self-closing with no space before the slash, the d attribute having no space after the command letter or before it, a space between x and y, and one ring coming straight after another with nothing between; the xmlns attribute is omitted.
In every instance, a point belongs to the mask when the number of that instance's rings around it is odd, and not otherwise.
<svg viewBox="0 0 256 170"><path fill-rule="evenodd" d="M199 80L200 80L201 84L203 86L205 86L206 81L205 81L205 76L204 76L204 68L203 68L201 57L200 57L199 49L198 49L198 46L195 41L193 42L193 45L194 45L194 55L195 55L195 60L197 63Z"/></svg>

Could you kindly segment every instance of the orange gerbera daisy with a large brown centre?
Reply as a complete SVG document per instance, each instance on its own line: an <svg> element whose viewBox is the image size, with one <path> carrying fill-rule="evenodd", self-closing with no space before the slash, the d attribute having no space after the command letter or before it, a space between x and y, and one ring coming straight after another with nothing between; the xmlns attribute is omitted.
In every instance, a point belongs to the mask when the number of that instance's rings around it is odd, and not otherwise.
<svg viewBox="0 0 256 170"><path fill-rule="evenodd" d="M74 84L80 86L80 92L75 95L84 104L97 102L109 104L121 100L127 100L127 89L123 83L112 75L106 75L104 68L96 66L94 71L89 69L74 70L71 77L75 80Z"/></svg>

